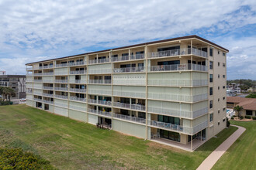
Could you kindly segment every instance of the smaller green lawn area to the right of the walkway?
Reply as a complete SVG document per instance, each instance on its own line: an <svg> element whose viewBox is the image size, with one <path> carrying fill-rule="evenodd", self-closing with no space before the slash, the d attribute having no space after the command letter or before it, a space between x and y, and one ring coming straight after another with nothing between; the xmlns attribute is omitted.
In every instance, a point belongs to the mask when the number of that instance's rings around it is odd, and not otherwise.
<svg viewBox="0 0 256 170"><path fill-rule="evenodd" d="M220 158L213 169L255 169L256 168L256 121L231 121L246 128L244 134L237 139Z"/></svg>

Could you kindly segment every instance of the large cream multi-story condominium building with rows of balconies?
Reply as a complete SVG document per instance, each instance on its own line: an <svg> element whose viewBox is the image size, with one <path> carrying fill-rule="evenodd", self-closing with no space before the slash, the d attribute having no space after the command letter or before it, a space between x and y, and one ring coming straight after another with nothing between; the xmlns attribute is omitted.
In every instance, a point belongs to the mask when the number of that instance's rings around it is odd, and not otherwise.
<svg viewBox="0 0 256 170"><path fill-rule="evenodd" d="M27 63L27 105L194 150L226 127L227 53L184 36Z"/></svg>

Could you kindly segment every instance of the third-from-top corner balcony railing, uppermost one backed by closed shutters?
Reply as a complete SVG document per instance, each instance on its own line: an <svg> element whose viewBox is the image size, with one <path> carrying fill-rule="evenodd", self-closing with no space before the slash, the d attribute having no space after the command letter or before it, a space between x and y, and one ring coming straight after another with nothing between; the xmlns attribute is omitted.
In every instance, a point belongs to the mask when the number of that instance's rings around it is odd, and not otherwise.
<svg viewBox="0 0 256 170"><path fill-rule="evenodd" d="M208 80L148 80L148 85L164 87L199 87L207 86Z"/></svg>

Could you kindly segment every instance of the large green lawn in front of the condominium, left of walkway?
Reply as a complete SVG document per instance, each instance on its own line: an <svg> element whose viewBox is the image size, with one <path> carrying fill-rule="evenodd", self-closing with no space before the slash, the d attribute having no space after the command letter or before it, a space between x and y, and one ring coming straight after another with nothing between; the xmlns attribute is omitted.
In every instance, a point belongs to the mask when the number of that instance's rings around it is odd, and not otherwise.
<svg viewBox="0 0 256 170"><path fill-rule="evenodd" d="M195 169L236 130L225 129L218 138L189 152L24 104L0 107L0 148L32 151L60 169Z"/></svg>

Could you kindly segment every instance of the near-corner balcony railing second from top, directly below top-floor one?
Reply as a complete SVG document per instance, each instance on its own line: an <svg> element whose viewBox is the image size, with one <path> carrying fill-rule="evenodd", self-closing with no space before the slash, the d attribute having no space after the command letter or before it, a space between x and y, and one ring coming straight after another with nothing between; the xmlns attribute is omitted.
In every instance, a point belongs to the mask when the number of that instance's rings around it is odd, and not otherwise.
<svg viewBox="0 0 256 170"><path fill-rule="evenodd" d="M149 66L149 71L207 71L207 66L199 65L199 64L172 64L172 65L159 65L159 66Z"/></svg>

